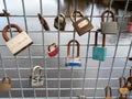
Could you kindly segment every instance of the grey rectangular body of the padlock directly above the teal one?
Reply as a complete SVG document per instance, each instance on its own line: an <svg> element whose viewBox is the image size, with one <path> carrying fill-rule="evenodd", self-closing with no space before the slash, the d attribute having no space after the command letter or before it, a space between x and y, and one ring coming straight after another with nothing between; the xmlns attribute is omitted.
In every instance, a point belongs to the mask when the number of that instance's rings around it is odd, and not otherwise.
<svg viewBox="0 0 132 99"><path fill-rule="evenodd" d="M117 22L101 22L102 34L116 34L118 32Z"/></svg>

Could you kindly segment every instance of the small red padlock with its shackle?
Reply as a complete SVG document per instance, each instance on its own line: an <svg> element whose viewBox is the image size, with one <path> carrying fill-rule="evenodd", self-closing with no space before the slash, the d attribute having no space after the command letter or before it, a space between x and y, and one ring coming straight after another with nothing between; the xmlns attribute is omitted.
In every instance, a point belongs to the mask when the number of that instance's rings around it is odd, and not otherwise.
<svg viewBox="0 0 132 99"><path fill-rule="evenodd" d="M51 50L51 47L54 46L54 50ZM56 45L56 43L52 43L51 45L48 45L48 56L53 57L58 53L59 48Z"/></svg>

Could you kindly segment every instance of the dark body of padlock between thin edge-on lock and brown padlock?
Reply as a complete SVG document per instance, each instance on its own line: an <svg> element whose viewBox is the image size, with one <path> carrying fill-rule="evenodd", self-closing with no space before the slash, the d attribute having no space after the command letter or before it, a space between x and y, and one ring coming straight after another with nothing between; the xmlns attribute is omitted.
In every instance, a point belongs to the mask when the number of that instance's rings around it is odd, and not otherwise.
<svg viewBox="0 0 132 99"><path fill-rule="evenodd" d="M58 24L59 24L59 28L58 28ZM58 23L58 19L54 21L54 28L56 28L57 30L59 29L61 31L64 31L65 26L66 26L65 21L59 20L59 23Z"/></svg>

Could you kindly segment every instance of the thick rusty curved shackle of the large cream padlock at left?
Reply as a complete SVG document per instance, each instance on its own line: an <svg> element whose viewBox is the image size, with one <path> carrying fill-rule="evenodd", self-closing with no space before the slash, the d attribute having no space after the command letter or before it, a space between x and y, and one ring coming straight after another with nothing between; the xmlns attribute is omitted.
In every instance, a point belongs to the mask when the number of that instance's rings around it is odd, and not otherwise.
<svg viewBox="0 0 132 99"><path fill-rule="evenodd" d="M9 25L4 26L3 30L2 30L2 36L3 36L3 38L4 38L6 42L8 42L8 41L10 40L10 38L8 37L8 35L7 35L7 32L8 32L8 30L9 30L10 28L16 29L16 31L18 31L19 33L22 32L22 29L21 29L19 25L16 25L16 24L9 24Z"/></svg>

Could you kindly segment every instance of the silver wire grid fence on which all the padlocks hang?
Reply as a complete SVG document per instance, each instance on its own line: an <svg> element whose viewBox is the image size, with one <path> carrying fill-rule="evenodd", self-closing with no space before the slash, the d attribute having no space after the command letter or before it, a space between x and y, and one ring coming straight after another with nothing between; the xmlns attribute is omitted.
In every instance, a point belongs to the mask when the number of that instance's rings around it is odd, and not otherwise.
<svg viewBox="0 0 132 99"><path fill-rule="evenodd" d="M124 28L125 19L129 18L128 6L130 0L125 0L124 10L122 10L121 14L117 15L118 20L120 20L119 33L117 35L107 35L106 47L108 55L106 62L98 62L91 58L96 28L84 36L78 36L72 26L69 14L66 15L67 24L64 32L53 28L54 18L62 10L61 3L63 0L53 1L56 2L55 7L51 6L50 9L46 9L50 6L50 3L45 3L46 0L0 1L2 9L11 13L9 18L0 18L0 33L2 33L2 29L7 24L16 23L29 33L34 42L19 55L13 56L7 48L2 35L0 35L0 79L4 76L12 78L11 90L9 92L0 91L0 98L76 99L77 96L86 96L87 99L102 99L105 97L105 87L109 85L112 88L113 98L118 99L118 79L121 76L128 77L131 66L131 62L128 61L128 57L131 56L131 34L124 34L125 38L122 38L122 29ZM36 6L37 10L32 10L33 8L29 7L30 2ZM91 0L91 6L86 15L94 22L95 26L98 26L97 24L100 24L100 13L95 14L95 2L96 0ZM109 8L107 9L111 10L113 0L109 0ZM14 3L16 3L16 7ZM79 8L78 3L78 0L74 0L73 10ZM30 13L28 10L32 12ZM20 13L16 14L16 12ZM38 12L44 14L51 26L51 31L44 31L40 24L36 15ZM97 19L99 22L95 21ZM13 34L10 36L13 36ZM101 37L101 35L99 36ZM73 38L80 43L82 66L68 68L65 67L65 57L67 55L67 43ZM109 41L114 43L109 43ZM58 55L53 58L47 56L47 45L52 42L56 42L61 50ZM44 70L44 87L41 88L33 88L29 85L31 69L36 65L42 66ZM131 98L130 92L129 99Z"/></svg>

